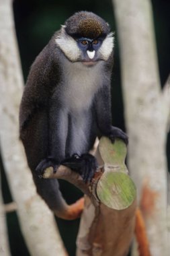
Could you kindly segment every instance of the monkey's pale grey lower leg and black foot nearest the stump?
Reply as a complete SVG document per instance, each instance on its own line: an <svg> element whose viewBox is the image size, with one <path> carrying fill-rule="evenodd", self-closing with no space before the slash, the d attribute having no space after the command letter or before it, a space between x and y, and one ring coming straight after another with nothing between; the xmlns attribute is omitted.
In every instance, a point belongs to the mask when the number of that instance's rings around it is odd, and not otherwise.
<svg viewBox="0 0 170 256"><path fill-rule="evenodd" d="M83 181L91 181L97 169L97 160L89 152L95 141L95 124L91 110L82 110L69 117L66 158L61 164L78 172ZM76 154L75 154L76 153Z"/></svg>

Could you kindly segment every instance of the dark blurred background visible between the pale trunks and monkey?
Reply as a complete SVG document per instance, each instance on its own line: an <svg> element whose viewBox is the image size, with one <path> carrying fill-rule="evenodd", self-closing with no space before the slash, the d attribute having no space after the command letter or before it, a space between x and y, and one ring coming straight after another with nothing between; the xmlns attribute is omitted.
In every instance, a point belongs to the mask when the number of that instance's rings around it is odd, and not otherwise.
<svg viewBox="0 0 170 256"><path fill-rule="evenodd" d="M159 58L159 71L161 84L163 86L169 74L170 67L170 1L153 0L152 2ZM30 69L30 65L32 65L36 55L38 55L42 48L48 43L48 40L50 40L52 34L54 34L54 32L60 28L60 25L63 24L65 20L73 13L75 13L75 11L81 10L93 11L97 15L100 15L103 19L110 23L112 31L116 31L112 1L110 0L15 0L13 2L15 27L25 81ZM122 13L122 15L124 14ZM112 78L112 113L114 117L114 125L125 129L122 91L120 84L120 60L118 36L116 32L114 71ZM168 141L170 141L170 139L168 139ZM168 142L167 156L170 156L169 145L170 143ZM3 167L1 159L0 166ZM12 198L7 186L4 172L2 173L2 180L4 201L5 203L9 203ZM68 203L72 203L75 201L75 199L81 196L78 189L68 185L68 183L66 184L65 182L62 182L60 187L62 194L67 199ZM79 220L57 220L57 222L62 238L64 239L67 250L69 251L69 255L74 256L75 238L77 236ZM24 239L22 238L22 233L19 230L19 224L15 213L7 214L7 226L9 231L11 255L30 255L24 243Z"/></svg>

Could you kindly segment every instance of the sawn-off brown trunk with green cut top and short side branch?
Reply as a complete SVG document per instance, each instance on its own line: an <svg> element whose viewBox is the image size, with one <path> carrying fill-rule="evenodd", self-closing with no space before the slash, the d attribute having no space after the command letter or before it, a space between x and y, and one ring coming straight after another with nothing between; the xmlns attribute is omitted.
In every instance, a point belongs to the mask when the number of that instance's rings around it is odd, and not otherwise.
<svg viewBox="0 0 170 256"><path fill-rule="evenodd" d="M47 168L44 178L65 179L86 194L77 237L77 256L92 255L92 251L94 256L123 256L134 234L136 210L136 188L124 164L126 146L121 140L112 144L103 137L96 157L102 167L88 185L79 174L65 166L60 166L56 173Z"/></svg>

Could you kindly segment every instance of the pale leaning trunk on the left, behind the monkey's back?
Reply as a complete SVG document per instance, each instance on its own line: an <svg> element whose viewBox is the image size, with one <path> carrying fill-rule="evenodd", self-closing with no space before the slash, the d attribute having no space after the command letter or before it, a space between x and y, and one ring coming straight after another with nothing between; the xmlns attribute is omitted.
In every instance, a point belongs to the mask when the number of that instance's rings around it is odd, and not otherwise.
<svg viewBox="0 0 170 256"><path fill-rule="evenodd" d="M54 218L36 193L32 174L19 142L18 112L24 82L19 64L11 4L10 0L0 0L1 154L30 254L64 256L65 249L56 230Z"/></svg>

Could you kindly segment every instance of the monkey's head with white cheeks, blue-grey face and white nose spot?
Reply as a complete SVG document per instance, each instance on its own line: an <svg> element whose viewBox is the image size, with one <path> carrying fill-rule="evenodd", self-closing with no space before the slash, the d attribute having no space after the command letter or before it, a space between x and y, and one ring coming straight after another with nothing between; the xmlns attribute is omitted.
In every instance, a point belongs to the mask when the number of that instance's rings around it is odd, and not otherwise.
<svg viewBox="0 0 170 256"><path fill-rule="evenodd" d="M81 61L85 65L107 61L114 47L109 24L88 11L71 16L55 40L70 61Z"/></svg>

